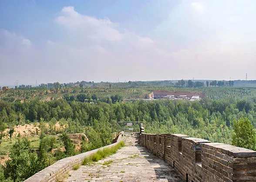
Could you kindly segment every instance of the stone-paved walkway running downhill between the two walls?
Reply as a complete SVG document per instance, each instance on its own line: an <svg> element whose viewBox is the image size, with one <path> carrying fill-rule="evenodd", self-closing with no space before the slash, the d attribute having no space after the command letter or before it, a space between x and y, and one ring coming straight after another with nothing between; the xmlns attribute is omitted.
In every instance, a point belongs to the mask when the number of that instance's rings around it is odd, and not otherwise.
<svg viewBox="0 0 256 182"><path fill-rule="evenodd" d="M90 166L70 171L64 182L182 182L163 160L141 146L135 136L125 134L126 146Z"/></svg>

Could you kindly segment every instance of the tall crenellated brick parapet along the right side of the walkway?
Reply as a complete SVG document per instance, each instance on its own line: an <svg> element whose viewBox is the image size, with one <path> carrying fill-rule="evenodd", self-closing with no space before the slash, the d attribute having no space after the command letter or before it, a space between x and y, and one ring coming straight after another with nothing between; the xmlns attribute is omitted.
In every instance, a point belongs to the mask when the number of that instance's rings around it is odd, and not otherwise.
<svg viewBox="0 0 256 182"><path fill-rule="evenodd" d="M140 144L186 182L256 182L256 151L182 134L141 133Z"/></svg>

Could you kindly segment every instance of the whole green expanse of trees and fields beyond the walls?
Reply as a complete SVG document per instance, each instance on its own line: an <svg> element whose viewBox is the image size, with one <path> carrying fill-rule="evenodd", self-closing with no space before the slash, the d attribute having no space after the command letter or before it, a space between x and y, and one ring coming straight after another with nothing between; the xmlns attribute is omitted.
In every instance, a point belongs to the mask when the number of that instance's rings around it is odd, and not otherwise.
<svg viewBox="0 0 256 182"><path fill-rule="evenodd" d="M172 87L169 90L175 89L177 88ZM250 143L246 145L239 143L239 132L234 135L234 131L241 131L239 126L246 124L249 126L246 128L253 132L250 135L255 135L254 89L209 87L205 90L179 90L204 91L208 98L200 101L145 101L127 97L134 94L145 98L152 90L84 88L82 85L72 89L16 88L2 92L4 96L0 100L0 143L7 140L3 139L4 135L5 138L9 137L9 141L14 138L15 141L13 140L9 150L10 160L0 167L0 181L23 181L56 160L110 144L112 134L122 130L118 121L143 123L147 133L183 133L212 142L256 149L256 139L250 137L243 140ZM45 101L41 97L33 97L38 93L55 98ZM13 136L15 126L36 123L40 128L37 133L37 147L32 146L26 137ZM59 123L62 130L55 128L56 123ZM89 141L83 140L81 149L77 151L68 136L69 133L84 133ZM60 145L64 146L64 151L53 151Z"/></svg>

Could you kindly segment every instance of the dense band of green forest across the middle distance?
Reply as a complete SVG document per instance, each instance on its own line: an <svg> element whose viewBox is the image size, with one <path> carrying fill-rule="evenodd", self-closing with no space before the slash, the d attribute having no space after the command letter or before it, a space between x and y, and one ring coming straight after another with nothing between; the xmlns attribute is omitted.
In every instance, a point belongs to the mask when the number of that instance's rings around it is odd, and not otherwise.
<svg viewBox="0 0 256 182"><path fill-rule="evenodd" d="M50 102L34 100L25 103L0 101L0 115L2 123L8 126L23 122L51 123L63 120L62 122L68 123L66 130L69 133L81 132L81 126L94 130L105 130L110 126L118 129L117 121L136 120L144 123L149 132L181 132L190 135L195 135L195 132L197 136L224 142L223 138L218 138L216 134L228 134L233 120L248 117L256 126L255 102L255 99L232 98L219 101L205 98L195 102L134 100L125 103L118 100L87 103L64 99ZM230 140L225 142L229 143Z"/></svg>

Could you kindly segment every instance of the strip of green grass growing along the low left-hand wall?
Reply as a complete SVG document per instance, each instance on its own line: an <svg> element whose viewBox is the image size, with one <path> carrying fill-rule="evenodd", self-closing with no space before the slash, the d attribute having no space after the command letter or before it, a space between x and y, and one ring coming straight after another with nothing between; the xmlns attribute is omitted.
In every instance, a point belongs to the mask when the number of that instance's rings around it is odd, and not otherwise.
<svg viewBox="0 0 256 182"><path fill-rule="evenodd" d="M100 159L104 159L107 156L110 156L112 154L115 154L118 149L125 146L125 142L121 141L118 142L115 146L112 146L110 148L104 148L103 150L98 150L96 153L92 154L89 157L85 157L82 165L89 165L92 162L97 162Z"/></svg>

